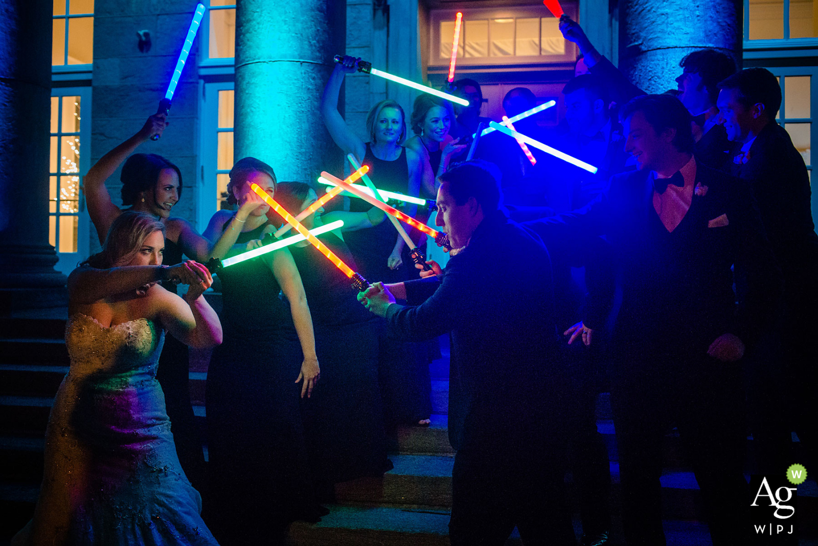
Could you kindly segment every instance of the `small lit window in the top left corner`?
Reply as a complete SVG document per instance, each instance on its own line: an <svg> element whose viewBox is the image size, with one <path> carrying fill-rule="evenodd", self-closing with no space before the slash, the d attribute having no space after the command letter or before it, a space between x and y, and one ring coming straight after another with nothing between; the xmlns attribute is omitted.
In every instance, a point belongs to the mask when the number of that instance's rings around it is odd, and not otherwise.
<svg viewBox="0 0 818 546"><path fill-rule="evenodd" d="M94 61L94 0L54 0L52 65Z"/></svg>

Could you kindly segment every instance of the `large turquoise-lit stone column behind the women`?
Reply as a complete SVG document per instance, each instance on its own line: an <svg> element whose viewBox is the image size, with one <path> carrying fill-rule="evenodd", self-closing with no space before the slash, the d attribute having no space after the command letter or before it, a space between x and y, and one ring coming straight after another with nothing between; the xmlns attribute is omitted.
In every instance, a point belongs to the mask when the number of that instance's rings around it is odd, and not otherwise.
<svg viewBox="0 0 818 546"><path fill-rule="evenodd" d="M343 0L238 0L235 158L272 165L280 182L316 183L341 165L321 93L344 53Z"/></svg>

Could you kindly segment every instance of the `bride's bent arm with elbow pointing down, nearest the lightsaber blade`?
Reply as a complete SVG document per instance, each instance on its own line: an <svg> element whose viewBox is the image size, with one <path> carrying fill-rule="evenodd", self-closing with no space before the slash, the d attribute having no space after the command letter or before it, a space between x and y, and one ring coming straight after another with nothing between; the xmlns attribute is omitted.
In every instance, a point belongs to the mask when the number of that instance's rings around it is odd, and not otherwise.
<svg viewBox="0 0 818 546"><path fill-rule="evenodd" d="M222 343L222 323L202 294L213 284L213 278L202 264L191 260L184 265L196 276L184 296L160 286L151 287L149 296L155 297L160 322L173 337L196 349L212 349Z"/></svg>

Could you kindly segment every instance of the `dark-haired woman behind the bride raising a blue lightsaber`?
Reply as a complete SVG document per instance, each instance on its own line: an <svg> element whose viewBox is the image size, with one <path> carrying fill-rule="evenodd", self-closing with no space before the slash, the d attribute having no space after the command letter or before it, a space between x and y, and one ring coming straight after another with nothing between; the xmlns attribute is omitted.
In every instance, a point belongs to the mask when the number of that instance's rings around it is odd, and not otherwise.
<svg viewBox="0 0 818 546"><path fill-rule="evenodd" d="M165 264L181 263L182 254L204 264L213 255L230 249L236 243L238 232L235 229L227 230L218 241L211 242L197 233L186 219L171 217L173 206L182 196L182 172L162 156L133 153L143 143L150 141L151 137L164 132L168 126L165 117L165 114L151 115L133 137L106 153L88 169L88 174L83 178L88 215L97 228L97 235L102 243L111 224L124 210L151 214L165 227ZM119 178L122 180L122 203L127 209L119 208L113 203L106 187L106 180L123 162ZM240 226L240 220L245 219L259 203L260 199L247 203L236 214L234 227ZM258 241L250 241L241 246L241 250L250 250L255 246L258 246ZM176 291L172 284L165 287L169 291ZM206 496L205 456L191 405L188 359L187 345L169 337L164 344L156 377L164 391L179 460L191 483Z"/></svg>

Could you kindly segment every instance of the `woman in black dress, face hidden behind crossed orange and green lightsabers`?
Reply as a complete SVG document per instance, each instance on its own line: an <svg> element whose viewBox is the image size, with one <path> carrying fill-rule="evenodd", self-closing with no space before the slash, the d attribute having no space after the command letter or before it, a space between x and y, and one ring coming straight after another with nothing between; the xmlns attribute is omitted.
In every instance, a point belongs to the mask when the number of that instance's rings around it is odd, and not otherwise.
<svg viewBox="0 0 818 546"><path fill-rule="evenodd" d="M307 184L282 183L276 201L297 214L317 201L317 195ZM301 223L312 229L343 219L343 228L318 238L355 270L344 237L382 223L384 213L375 207L366 212L323 213L319 208ZM307 293L316 352L321 357L321 388L302 404L304 433L317 485L330 490L340 481L380 476L391 467L386 458L378 386L381 324L357 302L357 292L346 275L309 241L290 246L290 252Z"/></svg>

